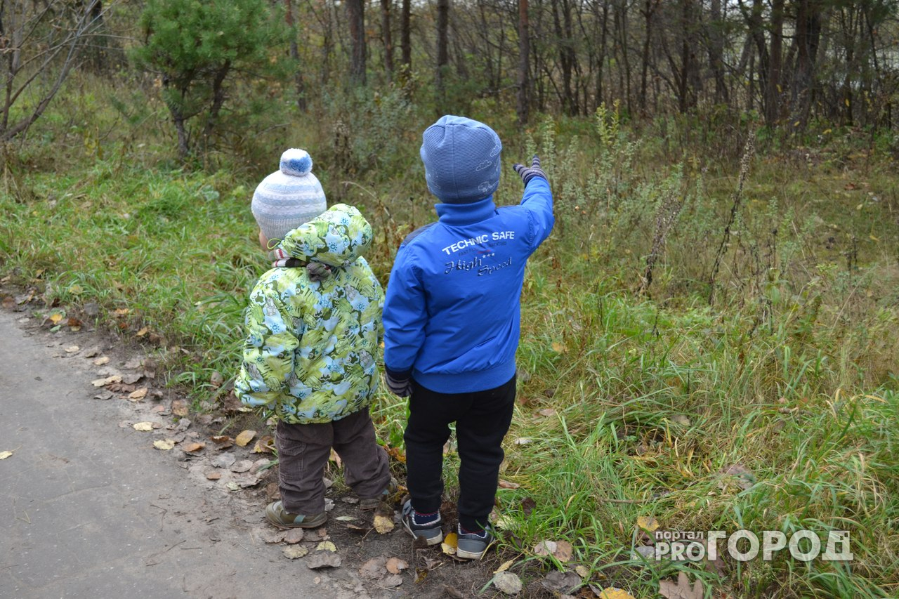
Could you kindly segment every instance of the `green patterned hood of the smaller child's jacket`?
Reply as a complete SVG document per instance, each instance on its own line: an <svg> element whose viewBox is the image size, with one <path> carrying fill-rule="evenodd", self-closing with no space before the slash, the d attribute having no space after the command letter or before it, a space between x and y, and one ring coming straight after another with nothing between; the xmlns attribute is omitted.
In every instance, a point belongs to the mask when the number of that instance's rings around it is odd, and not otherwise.
<svg viewBox="0 0 899 599"><path fill-rule="evenodd" d="M371 225L356 208L334 204L306 224L289 231L280 248L303 262L349 266L371 246Z"/></svg>

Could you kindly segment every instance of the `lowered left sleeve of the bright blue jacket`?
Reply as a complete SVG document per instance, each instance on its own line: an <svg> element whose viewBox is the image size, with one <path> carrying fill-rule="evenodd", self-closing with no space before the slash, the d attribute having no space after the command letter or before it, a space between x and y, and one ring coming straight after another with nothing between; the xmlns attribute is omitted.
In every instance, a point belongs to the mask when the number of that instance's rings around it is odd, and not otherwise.
<svg viewBox="0 0 899 599"><path fill-rule="evenodd" d="M427 321L424 288L412 264L413 254L409 246L400 246L384 300L384 368L400 380L412 376Z"/></svg>

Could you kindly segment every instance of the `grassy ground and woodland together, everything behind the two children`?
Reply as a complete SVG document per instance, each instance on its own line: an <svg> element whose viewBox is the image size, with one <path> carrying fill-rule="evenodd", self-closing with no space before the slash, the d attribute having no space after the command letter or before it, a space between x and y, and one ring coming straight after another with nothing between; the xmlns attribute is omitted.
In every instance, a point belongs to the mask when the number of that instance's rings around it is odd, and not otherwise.
<svg viewBox="0 0 899 599"><path fill-rule="evenodd" d="M421 132L482 120L498 203L539 153L557 218L522 296L503 548L565 569L528 548L570 541L585 583L635 596L678 570L707 596L895 596L897 12L0 0L7 300L137 336L211 409L266 267L249 201L280 152L307 148L329 202L372 221L387 284L434 218ZM401 460L403 402L373 413ZM657 526L848 530L854 559L647 563Z"/></svg>

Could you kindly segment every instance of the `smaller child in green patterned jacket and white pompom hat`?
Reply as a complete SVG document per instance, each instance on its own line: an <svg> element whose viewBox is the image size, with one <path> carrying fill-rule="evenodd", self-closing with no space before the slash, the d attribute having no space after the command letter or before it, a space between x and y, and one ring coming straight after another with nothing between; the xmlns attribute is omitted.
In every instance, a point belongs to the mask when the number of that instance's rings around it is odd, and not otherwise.
<svg viewBox="0 0 899 599"><path fill-rule="evenodd" d="M250 293L238 398L277 420L280 501L276 526L325 523L325 465L341 457L345 482L374 509L391 485L369 402L378 386L384 293L363 255L371 226L359 210L325 210L306 151L289 149L256 188L253 214L272 268ZM277 246L276 246L277 244Z"/></svg>

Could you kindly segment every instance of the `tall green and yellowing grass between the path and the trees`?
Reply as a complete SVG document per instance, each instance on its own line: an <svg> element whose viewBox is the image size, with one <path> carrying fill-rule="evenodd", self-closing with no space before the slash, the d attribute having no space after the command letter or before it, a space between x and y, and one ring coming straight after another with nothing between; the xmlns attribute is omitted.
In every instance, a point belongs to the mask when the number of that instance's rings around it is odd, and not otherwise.
<svg viewBox="0 0 899 599"><path fill-rule="evenodd" d="M260 148L313 151L330 201L355 203L372 221L382 282L399 240L433 218L415 142L430 118L396 98L366 109L391 120L378 130L351 127L347 151L361 162L349 170L335 165L343 150L331 146L324 112L290 115L303 139L272 130L213 156L218 168L182 170L158 105L128 115L100 93L71 93L72 114L55 108L34 131L59 155L25 144L4 174L0 276L36 288L45 311L94 304L99 326L129 338L146 326L170 381L198 408L213 396L211 371L226 380L236 371L245 297L267 266L249 211L255 183L274 168ZM85 103L93 121L73 126ZM522 295L525 374L502 473L520 487L499 492L514 533L503 546L527 560L516 571L559 567L530 550L567 540L594 584L635 596L656 596L679 568L715 589L707 596L899 593L899 196L888 157L850 135L799 158L760 150L710 282L738 149L672 159L651 128L627 130L612 114L526 131L504 114L496 126L507 162L498 201L517 201L509 165L539 151L557 216ZM649 293L636 296L670 197L683 199L680 216ZM387 394L372 407L392 447L401 448L405 409ZM723 474L734 465L751 487ZM725 559L720 573L645 564L631 553L640 516L670 531L849 530L855 559L806 564L781 552Z"/></svg>

